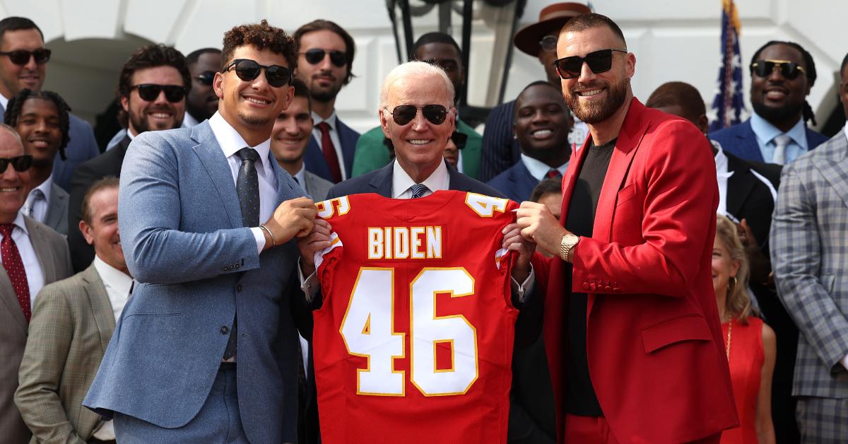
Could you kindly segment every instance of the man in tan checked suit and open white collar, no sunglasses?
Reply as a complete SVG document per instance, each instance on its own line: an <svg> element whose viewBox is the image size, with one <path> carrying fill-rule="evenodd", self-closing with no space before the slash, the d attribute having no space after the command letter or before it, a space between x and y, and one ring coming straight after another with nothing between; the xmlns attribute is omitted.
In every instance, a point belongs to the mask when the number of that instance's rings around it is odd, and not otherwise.
<svg viewBox="0 0 848 444"><path fill-rule="evenodd" d="M14 402L32 443L114 441L111 422L82 407L132 288L118 231L118 179L106 177L82 202L80 231L92 265L38 294Z"/></svg>

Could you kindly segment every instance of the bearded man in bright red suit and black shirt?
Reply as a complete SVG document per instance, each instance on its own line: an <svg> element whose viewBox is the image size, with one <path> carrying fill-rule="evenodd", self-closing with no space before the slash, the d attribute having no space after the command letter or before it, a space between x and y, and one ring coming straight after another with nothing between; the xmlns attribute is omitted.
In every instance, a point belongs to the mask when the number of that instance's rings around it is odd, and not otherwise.
<svg viewBox="0 0 848 444"><path fill-rule="evenodd" d="M738 421L711 285L710 145L633 98L636 58L609 18L569 20L557 56L591 137L563 177L560 220L524 202L517 223L554 255L533 261L559 439L718 442Z"/></svg>

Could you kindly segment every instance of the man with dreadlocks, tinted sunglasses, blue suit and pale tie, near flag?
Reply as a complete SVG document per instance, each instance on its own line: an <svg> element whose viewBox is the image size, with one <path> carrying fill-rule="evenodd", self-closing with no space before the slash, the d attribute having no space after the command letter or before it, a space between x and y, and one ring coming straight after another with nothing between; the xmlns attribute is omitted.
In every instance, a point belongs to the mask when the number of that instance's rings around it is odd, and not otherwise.
<svg viewBox="0 0 848 444"><path fill-rule="evenodd" d="M812 55L795 42L767 42L750 65L750 119L711 132L722 149L745 160L780 165L816 148L828 138L806 127L816 124L806 96L816 82Z"/></svg>

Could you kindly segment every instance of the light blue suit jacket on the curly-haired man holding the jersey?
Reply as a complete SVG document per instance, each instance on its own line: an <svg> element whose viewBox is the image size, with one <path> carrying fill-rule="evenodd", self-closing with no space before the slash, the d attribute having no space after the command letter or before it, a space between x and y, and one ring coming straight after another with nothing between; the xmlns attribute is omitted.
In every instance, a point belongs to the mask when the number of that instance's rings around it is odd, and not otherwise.
<svg viewBox="0 0 848 444"><path fill-rule="evenodd" d="M304 195L269 163L277 203ZM209 122L135 138L118 208L137 284L83 405L165 428L187 424L209 395L237 313L245 433L252 442L297 441L295 322L311 337L297 247L292 240L257 253Z"/></svg>

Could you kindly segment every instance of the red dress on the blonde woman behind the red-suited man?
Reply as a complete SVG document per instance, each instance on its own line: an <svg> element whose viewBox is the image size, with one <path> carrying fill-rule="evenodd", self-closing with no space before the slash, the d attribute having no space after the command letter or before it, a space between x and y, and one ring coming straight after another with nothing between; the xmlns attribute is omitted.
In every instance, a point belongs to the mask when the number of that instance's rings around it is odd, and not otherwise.
<svg viewBox="0 0 848 444"><path fill-rule="evenodd" d="M730 379L734 386L740 427L724 430L722 444L756 443L756 396L760 392L762 363L762 319L750 317L748 325L736 319L730 336ZM724 346L728 345L728 324L722 323Z"/></svg>

